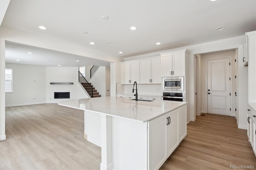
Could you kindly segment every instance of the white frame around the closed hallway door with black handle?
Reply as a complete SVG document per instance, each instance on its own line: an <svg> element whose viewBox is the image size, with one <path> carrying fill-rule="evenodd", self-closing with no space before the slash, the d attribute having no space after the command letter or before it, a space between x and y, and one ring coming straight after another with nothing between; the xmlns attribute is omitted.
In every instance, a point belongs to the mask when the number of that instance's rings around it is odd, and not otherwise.
<svg viewBox="0 0 256 170"><path fill-rule="evenodd" d="M215 59L225 59L225 58L229 58L229 62L230 62L230 70L229 70L229 76L230 78L233 78L232 77L232 57L217 57L217 58L212 58L212 59L206 59L205 60L205 70L206 70L206 74L205 74L205 85L206 85L206 88L205 88L205 97L206 97L206 103L205 103L205 108L206 108L206 113L208 113L208 97L207 97L207 89L208 89L208 83L207 83L207 61L208 60L215 60ZM232 93L232 80L230 80L230 93ZM230 108L232 109L232 96L230 96ZM230 116L232 116L232 110L230 112Z"/></svg>

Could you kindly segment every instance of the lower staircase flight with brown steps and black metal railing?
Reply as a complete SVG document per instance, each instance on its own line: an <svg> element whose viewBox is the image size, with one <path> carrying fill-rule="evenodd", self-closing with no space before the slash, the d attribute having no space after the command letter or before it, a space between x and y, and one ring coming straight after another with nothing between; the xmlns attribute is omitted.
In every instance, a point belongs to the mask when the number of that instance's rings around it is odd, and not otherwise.
<svg viewBox="0 0 256 170"><path fill-rule="evenodd" d="M81 85L84 87L84 89L87 91L88 95L90 95L91 98L101 97L101 95L99 95L99 92L97 92L97 90L95 90L95 87L93 87L92 83L89 83L80 73L80 71L78 71L78 81L81 83Z"/></svg>

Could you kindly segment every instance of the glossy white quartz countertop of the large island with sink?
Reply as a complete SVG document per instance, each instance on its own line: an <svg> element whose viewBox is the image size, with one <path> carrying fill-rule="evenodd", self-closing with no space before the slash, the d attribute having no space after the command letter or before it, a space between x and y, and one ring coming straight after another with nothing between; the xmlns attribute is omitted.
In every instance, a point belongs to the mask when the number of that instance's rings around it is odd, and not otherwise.
<svg viewBox="0 0 256 170"><path fill-rule="evenodd" d="M186 104L187 102L179 101L135 101L125 97L95 97L58 103L66 107L140 122L150 121Z"/></svg>

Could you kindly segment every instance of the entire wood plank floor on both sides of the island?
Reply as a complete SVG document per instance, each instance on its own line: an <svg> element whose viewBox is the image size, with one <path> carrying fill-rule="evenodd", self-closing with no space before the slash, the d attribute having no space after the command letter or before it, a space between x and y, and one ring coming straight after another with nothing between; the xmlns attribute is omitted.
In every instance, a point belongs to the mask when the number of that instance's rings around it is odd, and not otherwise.
<svg viewBox="0 0 256 170"><path fill-rule="evenodd" d="M0 169L100 169L100 147L86 141L84 112L57 104L6 108ZM131 162L132 163L132 162ZM205 114L160 169L230 169L256 158L234 117Z"/></svg>

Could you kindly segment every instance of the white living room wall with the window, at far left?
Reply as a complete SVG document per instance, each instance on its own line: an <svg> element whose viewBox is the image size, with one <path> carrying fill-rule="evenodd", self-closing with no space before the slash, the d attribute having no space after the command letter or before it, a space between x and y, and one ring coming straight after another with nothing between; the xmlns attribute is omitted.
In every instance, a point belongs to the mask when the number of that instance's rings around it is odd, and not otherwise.
<svg viewBox="0 0 256 170"><path fill-rule="evenodd" d="M12 93L5 93L6 107L45 103L46 67L6 63L12 69Z"/></svg>

